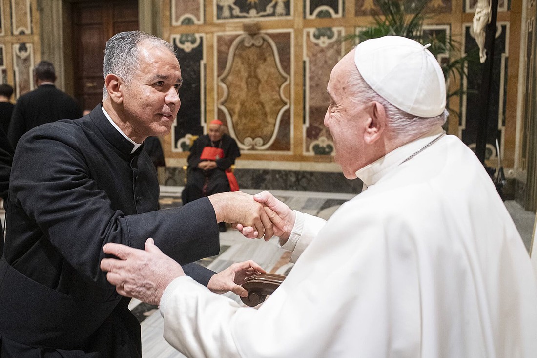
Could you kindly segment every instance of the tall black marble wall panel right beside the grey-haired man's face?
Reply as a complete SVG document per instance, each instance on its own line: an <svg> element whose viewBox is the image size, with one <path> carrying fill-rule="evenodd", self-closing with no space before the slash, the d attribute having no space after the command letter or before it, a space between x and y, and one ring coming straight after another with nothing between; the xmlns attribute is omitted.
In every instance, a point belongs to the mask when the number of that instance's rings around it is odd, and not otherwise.
<svg viewBox="0 0 537 358"><path fill-rule="evenodd" d="M202 135L203 128L200 125L201 108L205 107L205 103L201 103L201 91L205 90L205 78L201 78L201 61L203 58L204 38L199 39L197 47L192 48L190 52L183 49L185 42L195 44L196 37L194 34L182 34L180 37L173 39L173 48L175 48L179 65L181 66L181 75L183 77L183 85L179 89L179 98L181 99L181 108L177 113L177 126L173 128L175 131L175 143L172 143L174 149L177 148L177 140L183 138L187 133L194 135ZM205 96L204 96L205 97Z"/></svg>

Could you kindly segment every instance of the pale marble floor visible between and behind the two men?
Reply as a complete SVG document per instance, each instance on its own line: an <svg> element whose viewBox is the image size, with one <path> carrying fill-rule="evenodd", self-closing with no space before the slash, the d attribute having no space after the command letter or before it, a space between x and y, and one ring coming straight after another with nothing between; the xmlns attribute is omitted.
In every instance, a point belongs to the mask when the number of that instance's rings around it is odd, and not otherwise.
<svg viewBox="0 0 537 358"><path fill-rule="evenodd" d="M161 207L180 205L181 187L161 187ZM249 194L256 194L258 190L244 190ZM291 209L328 219L336 209L345 201L353 197L351 194L333 194L304 191L271 191ZM527 212L518 203L507 201L507 210L511 213L523 237L526 248L529 248L533 233L535 214ZM214 270L220 271L234 262L254 260L263 268L272 273L286 274L292 267L288 263L289 254L278 249L277 239L268 242L263 240L248 240L236 230L228 230L220 234L220 254L215 257L201 260L199 263ZM241 303L233 293L226 296ZM242 304L242 303L241 303ZM184 357L173 349L163 338L163 320L157 306L147 305L133 300L130 307L141 321L142 326L142 354L146 358L153 357Z"/></svg>

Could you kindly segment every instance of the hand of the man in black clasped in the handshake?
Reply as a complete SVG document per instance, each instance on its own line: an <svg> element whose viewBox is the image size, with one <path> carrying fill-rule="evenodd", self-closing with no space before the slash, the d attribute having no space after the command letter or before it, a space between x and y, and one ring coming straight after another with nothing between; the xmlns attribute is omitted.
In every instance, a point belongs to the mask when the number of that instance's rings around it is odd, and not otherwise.
<svg viewBox="0 0 537 358"><path fill-rule="evenodd" d="M278 227L285 226L279 216L273 214L272 218L269 218L264 204L256 202L251 195L241 191L222 192L208 198L213 204L216 221L251 226L252 238L259 239L264 236L265 240L269 240L273 235L273 223Z"/></svg>

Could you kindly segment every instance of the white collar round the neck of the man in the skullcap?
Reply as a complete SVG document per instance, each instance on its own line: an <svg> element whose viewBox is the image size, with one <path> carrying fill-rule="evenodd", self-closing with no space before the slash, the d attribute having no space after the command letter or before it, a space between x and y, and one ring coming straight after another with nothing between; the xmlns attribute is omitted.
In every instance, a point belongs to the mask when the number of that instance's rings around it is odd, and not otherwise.
<svg viewBox="0 0 537 358"><path fill-rule="evenodd" d="M368 164L364 168L361 168L356 172L356 176L364 182L364 189L369 185L373 185L379 181L386 173L389 173L393 168L407 161L409 157L419 153L424 149L424 146L429 147L431 141L440 139L440 136L444 134L443 130L427 133L424 137L418 138L410 143L407 143L401 147L395 148L390 153L384 155L380 159ZM432 143L431 143L432 144Z"/></svg>

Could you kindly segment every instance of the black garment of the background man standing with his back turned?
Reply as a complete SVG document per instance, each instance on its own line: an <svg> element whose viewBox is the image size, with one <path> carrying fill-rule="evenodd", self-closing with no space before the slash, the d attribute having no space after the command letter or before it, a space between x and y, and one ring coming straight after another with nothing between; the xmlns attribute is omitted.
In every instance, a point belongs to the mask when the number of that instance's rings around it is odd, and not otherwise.
<svg viewBox="0 0 537 358"><path fill-rule="evenodd" d="M38 125L80 117L82 111L74 98L53 84L42 84L17 99L11 114L8 138L15 148L19 138Z"/></svg>

